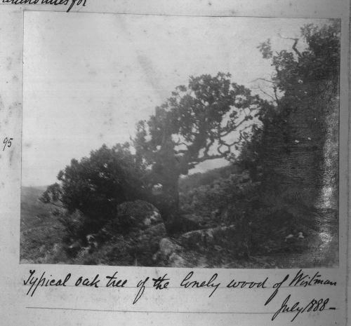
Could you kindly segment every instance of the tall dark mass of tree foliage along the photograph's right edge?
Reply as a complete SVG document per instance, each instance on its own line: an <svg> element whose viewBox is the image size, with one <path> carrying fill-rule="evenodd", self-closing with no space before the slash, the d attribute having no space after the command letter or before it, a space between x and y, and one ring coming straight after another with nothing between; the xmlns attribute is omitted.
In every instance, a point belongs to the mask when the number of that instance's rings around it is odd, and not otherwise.
<svg viewBox="0 0 351 326"><path fill-rule="evenodd" d="M303 42L307 46L298 50ZM335 203L340 22L305 25L301 38L291 43L291 51L279 53L269 40L259 46L274 67L274 109L260 111L261 123L239 159L253 179L260 176L265 193L275 189L282 198L290 192L288 198L297 196L305 199L304 205L316 206L323 187L333 184L329 200Z"/></svg>

